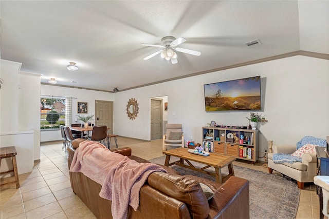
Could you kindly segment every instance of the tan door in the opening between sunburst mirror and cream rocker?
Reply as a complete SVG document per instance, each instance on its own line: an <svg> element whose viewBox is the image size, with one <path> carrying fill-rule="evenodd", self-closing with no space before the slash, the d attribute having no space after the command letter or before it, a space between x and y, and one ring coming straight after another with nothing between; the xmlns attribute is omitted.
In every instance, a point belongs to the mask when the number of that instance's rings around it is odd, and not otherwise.
<svg viewBox="0 0 329 219"><path fill-rule="evenodd" d="M162 100L151 99L151 140L162 137Z"/></svg>

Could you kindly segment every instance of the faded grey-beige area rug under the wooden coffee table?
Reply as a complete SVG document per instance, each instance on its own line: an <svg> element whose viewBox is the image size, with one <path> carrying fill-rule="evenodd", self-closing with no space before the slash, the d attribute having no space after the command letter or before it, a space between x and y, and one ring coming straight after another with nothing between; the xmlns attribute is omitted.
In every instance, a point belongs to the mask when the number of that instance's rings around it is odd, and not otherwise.
<svg viewBox="0 0 329 219"><path fill-rule="evenodd" d="M165 164L166 156L150 160L154 164ZM170 162L175 161L171 158ZM200 164L191 162L198 167ZM213 176L200 173L177 165L170 166L182 175L190 174L215 181ZM214 168L207 170L213 171ZM234 175L249 181L250 218L296 218L300 190L295 182L276 174L252 170L233 165ZM222 169L222 174L228 174L228 168Z"/></svg>

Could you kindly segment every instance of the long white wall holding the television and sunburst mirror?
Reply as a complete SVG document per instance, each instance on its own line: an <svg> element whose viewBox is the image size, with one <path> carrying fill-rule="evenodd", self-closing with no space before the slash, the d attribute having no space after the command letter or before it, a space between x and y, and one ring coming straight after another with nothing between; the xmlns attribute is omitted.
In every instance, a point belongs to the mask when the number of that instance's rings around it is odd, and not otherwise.
<svg viewBox="0 0 329 219"><path fill-rule="evenodd" d="M114 127L118 135L150 140L150 97L168 96L168 123L181 123L187 140L202 141L201 127L210 121L247 125L249 112L206 112L203 85L261 75L264 110L269 121L260 127L261 138L275 144L296 144L303 136L329 135L329 61L294 56L115 94ZM139 104L136 120L129 120L125 106L130 98ZM261 140L260 151L267 149ZM260 153L263 156L264 153Z"/></svg>

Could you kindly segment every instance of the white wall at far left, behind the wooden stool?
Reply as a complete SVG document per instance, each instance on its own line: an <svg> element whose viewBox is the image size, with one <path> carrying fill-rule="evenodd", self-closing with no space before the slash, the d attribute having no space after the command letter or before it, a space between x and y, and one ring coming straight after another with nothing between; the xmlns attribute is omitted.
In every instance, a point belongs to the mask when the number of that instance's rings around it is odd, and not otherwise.
<svg viewBox="0 0 329 219"><path fill-rule="evenodd" d="M15 146L19 174L31 172L40 159L41 75L19 72L21 65L0 59L0 147ZM10 158L2 163L1 172L11 166Z"/></svg>

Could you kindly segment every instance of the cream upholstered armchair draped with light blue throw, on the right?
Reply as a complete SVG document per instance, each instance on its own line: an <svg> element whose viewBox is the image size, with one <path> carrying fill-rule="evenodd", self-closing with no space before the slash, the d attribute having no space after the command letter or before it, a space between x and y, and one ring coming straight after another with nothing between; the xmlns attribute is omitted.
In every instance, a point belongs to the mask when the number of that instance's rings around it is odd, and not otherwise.
<svg viewBox="0 0 329 219"><path fill-rule="evenodd" d="M302 156L302 162L293 164L273 163L273 154L287 153L292 154L296 151L296 145L273 145L273 153L268 153L268 172L276 170L297 181L298 188L303 189L304 183L313 183L314 176L317 175L317 155L316 153L305 153Z"/></svg>

